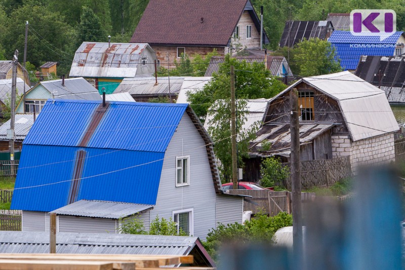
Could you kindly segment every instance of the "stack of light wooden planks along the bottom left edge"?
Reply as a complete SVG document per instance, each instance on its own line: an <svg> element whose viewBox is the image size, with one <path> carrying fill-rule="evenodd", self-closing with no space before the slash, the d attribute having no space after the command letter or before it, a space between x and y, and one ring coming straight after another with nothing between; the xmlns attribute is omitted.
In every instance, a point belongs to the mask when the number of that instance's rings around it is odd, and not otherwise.
<svg viewBox="0 0 405 270"><path fill-rule="evenodd" d="M0 270L214 270L210 267L175 267L193 263L193 256L127 254L0 254ZM165 268L159 268L164 266Z"/></svg>

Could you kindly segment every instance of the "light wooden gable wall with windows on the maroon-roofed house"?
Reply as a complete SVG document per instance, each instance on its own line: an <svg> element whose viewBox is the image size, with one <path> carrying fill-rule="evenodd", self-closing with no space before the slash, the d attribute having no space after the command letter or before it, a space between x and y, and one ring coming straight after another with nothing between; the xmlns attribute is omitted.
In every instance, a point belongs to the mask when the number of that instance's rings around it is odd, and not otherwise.
<svg viewBox="0 0 405 270"><path fill-rule="evenodd" d="M257 30L255 23L252 20L252 17L250 16L249 12L245 10L242 15L240 16L240 19L237 23L239 26L239 38L234 39L232 38L232 43L238 44L242 46L242 48L247 47L248 49L250 48L260 48L260 33ZM247 38L246 37L246 26L251 25L252 26L252 37Z"/></svg>

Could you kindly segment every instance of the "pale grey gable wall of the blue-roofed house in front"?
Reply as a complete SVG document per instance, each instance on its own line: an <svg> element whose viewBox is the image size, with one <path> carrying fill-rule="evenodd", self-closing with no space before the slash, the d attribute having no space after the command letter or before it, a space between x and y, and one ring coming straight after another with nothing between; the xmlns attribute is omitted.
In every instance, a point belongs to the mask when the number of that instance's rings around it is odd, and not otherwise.
<svg viewBox="0 0 405 270"><path fill-rule="evenodd" d="M193 210L193 236L207 237L215 227L216 193L205 142L185 112L165 153L156 205L150 220L171 218L173 211ZM176 187L176 157L190 156L190 185Z"/></svg>

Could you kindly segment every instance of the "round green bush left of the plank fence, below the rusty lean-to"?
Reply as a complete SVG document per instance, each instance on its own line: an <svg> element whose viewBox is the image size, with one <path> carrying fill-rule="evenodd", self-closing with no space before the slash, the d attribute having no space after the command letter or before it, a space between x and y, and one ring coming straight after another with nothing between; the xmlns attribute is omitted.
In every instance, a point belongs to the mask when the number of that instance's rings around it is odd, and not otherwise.
<svg viewBox="0 0 405 270"><path fill-rule="evenodd" d="M287 166L282 166L279 158L271 157L262 161L261 174L260 184L264 187L270 187L286 179L290 175L290 169Z"/></svg>

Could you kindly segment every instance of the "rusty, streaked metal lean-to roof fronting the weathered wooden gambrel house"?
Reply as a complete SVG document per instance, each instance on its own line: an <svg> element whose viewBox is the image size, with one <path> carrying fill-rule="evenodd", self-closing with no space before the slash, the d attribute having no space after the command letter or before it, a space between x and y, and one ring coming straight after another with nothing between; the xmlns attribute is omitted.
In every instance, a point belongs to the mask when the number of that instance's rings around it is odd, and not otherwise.
<svg viewBox="0 0 405 270"><path fill-rule="evenodd" d="M328 131L334 124L300 124L300 145L313 141L317 136ZM257 133L257 137L249 146L251 156L289 157L291 152L290 124L287 125L264 125ZM271 143L268 151L263 151L262 142Z"/></svg>

